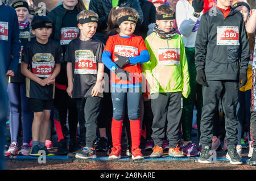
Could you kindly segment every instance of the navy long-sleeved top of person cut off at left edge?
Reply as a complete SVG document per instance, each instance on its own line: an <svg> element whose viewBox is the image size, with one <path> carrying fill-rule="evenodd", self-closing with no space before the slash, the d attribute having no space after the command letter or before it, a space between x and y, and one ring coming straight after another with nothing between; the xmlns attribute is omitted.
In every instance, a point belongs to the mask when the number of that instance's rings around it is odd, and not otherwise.
<svg viewBox="0 0 256 181"><path fill-rule="evenodd" d="M19 22L15 9L2 4L0 6L0 62L7 70L18 70L19 63Z"/></svg>

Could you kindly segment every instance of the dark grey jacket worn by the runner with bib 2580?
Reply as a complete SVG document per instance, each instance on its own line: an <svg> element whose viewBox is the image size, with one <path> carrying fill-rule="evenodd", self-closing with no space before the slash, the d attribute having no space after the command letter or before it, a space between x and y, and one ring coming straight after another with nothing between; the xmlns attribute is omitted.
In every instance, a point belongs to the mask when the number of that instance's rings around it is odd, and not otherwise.
<svg viewBox="0 0 256 181"><path fill-rule="evenodd" d="M224 27L238 29L239 44L217 44L217 29ZM220 35L228 39L234 36L229 36L229 32ZM205 12L197 31L195 49L196 69L204 69L208 80L237 80L240 69L246 74L250 48L242 14L231 7L229 15L224 18L216 6Z"/></svg>

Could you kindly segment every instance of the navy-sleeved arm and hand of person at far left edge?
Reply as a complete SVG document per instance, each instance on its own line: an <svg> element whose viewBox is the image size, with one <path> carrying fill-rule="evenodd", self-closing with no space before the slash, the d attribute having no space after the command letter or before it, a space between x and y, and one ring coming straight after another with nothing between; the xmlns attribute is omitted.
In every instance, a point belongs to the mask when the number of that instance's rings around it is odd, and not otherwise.
<svg viewBox="0 0 256 181"><path fill-rule="evenodd" d="M18 64L19 64L19 51L21 48L20 41L19 41L19 22L18 22L18 16L16 14L16 11L13 10L11 12L14 14L13 22L13 34L11 35L11 55L13 56L11 58L11 62L9 65L9 68L7 69L6 75L14 76L16 71L18 70Z"/></svg>

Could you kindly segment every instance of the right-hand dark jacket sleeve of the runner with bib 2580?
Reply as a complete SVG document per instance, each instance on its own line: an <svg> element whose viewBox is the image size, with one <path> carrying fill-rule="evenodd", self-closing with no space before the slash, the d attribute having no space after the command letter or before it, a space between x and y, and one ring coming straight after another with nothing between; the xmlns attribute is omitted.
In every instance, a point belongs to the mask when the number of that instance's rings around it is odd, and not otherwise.
<svg viewBox="0 0 256 181"><path fill-rule="evenodd" d="M241 26L241 58L240 58L240 73L246 74L248 69L248 63L250 60L250 45L248 40L248 35L245 28L245 22L243 21L243 16L241 16L240 20Z"/></svg>

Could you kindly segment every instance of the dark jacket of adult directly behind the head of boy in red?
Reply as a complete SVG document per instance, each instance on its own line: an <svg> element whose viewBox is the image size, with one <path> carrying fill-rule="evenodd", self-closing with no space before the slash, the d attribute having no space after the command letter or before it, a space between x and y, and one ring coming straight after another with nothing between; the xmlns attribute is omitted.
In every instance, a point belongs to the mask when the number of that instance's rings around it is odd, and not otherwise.
<svg viewBox="0 0 256 181"><path fill-rule="evenodd" d="M137 24L143 21L143 12L139 6L138 0L119 0L119 7L132 7L139 14ZM112 9L112 0L90 0L89 10L93 10L99 16L97 31L104 31L107 28L109 12Z"/></svg>

